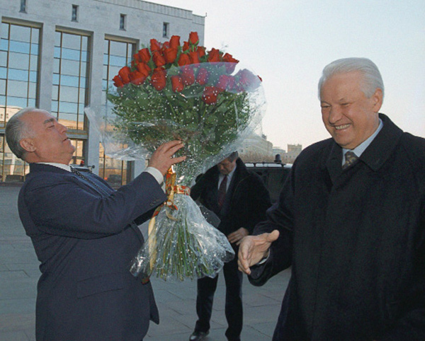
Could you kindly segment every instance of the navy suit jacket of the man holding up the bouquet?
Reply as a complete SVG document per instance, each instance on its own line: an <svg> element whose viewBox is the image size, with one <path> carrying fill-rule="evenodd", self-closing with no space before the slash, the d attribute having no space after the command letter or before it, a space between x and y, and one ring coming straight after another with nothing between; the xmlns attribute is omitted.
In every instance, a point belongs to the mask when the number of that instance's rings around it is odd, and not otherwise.
<svg viewBox="0 0 425 341"><path fill-rule="evenodd" d="M18 199L42 272L36 338L55 341L140 341L159 322L151 284L129 272L143 243L140 224L166 200L149 173L105 192L55 166L30 164Z"/></svg>

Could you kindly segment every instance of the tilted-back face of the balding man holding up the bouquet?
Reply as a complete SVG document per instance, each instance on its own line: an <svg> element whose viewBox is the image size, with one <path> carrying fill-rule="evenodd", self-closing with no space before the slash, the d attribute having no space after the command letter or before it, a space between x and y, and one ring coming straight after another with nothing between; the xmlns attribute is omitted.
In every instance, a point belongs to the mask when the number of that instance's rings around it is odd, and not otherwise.
<svg viewBox="0 0 425 341"><path fill-rule="evenodd" d="M67 127L46 111L28 112L21 120L30 131L30 136L20 142L28 162L69 164L75 147L67 137Z"/></svg>

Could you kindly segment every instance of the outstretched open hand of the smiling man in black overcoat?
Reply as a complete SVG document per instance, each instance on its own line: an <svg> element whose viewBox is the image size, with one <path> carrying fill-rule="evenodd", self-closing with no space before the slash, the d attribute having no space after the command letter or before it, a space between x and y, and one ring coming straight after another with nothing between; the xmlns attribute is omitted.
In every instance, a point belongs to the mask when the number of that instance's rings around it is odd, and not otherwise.
<svg viewBox="0 0 425 341"><path fill-rule="evenodd" d="M246 236L239 245L237 265L239 271L251 274L250 267L256 265L267 254L271 243L279 237L279 231L263 233L259 236Z"/></svg>

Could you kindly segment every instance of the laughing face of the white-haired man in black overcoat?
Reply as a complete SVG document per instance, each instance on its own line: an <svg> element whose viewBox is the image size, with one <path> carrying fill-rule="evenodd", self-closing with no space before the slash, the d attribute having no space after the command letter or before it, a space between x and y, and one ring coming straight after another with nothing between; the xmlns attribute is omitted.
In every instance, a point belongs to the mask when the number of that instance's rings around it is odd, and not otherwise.
<svg viewBox="0 0 425 341"><path fill-rule="evenodd" d="M324 126L342 148L356 148L379 125L382 91L376 89L367 98L361 91L362 79L358 71L334 74L323 83L320 91Z"/></svg>

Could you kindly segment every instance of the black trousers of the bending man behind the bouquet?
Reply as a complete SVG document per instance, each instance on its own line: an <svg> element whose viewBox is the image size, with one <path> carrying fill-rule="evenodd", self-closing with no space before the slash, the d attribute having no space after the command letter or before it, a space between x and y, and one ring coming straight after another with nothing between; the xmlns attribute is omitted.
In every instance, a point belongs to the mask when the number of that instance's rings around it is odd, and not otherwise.
<svg viewBox="0 0 425 341"><path fill-rule="evenodd" d="M228 328L226 337L228 340L240 340L243 325L242 311L242 278L243 274L237 270L237 256L234 260L225 263L223 267L226 282L226 305L225 313ZM212 313L212 301L215 289L217 289L218 274L215 278L204 277L198 279L198 294L196 296L196 321L195 330L207 332L210 330L210 318Z"/></svg>

